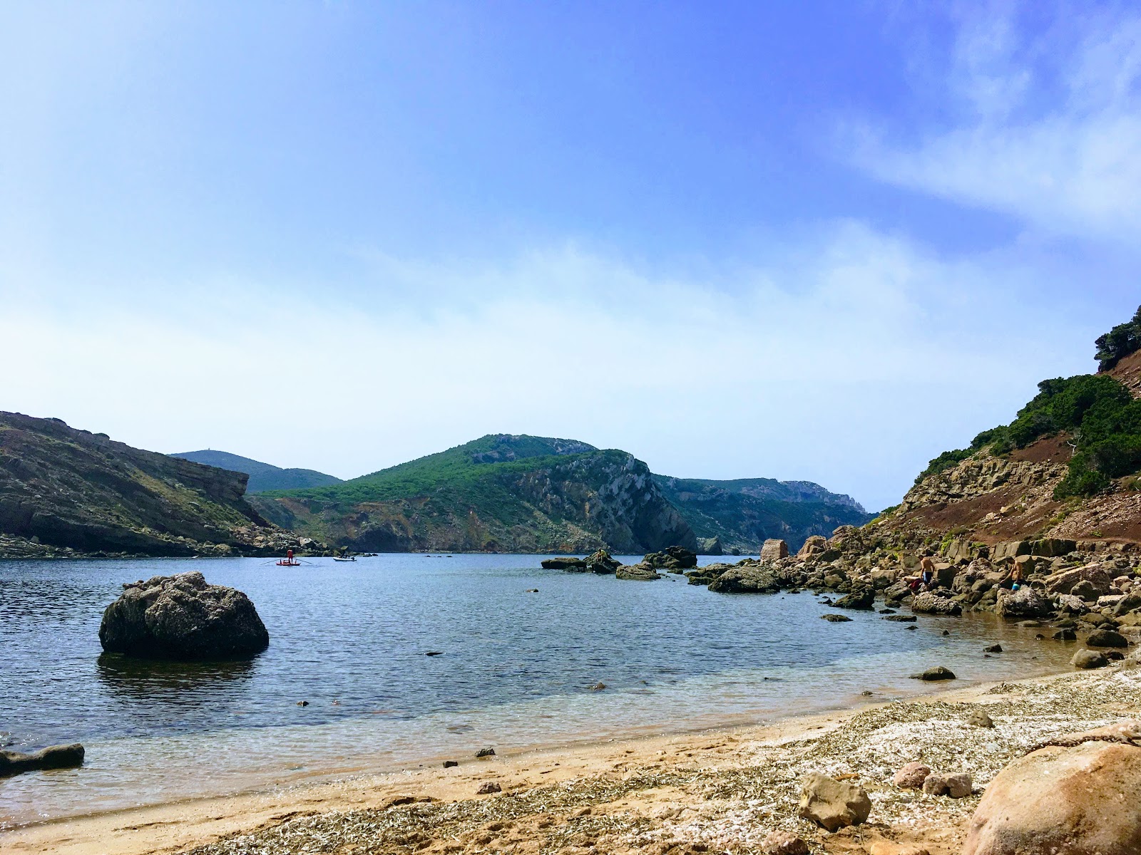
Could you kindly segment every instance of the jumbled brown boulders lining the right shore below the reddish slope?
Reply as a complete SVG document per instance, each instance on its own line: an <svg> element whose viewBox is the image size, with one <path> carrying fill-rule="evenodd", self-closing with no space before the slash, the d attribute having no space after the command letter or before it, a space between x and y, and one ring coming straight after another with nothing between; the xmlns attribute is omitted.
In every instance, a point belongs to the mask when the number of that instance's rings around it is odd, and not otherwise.
<svg viewBox="0 0 1141 855"><path fill-rule="evenodd" d="M921 584L923 562L931 578ZM694 552L671 546L631 565L598 551L586 559L547 560L543 567L629 580L655 580L658 571L683 573L690 585L723 594L808 589L836 609L875 610L879 604L889 620L905 619L899 609L944 616L990 611L1041 627L1059 641L1082 638L1097 650L1075 656L1081 668L1119 660L1125 649L1141 643L1141 548L1128 542L1047 538L986 545L874 521L859 529L842 526L831 538L810 537L795 555L784 540L767 540L759 559L731 564L697 567Z"/></svg>

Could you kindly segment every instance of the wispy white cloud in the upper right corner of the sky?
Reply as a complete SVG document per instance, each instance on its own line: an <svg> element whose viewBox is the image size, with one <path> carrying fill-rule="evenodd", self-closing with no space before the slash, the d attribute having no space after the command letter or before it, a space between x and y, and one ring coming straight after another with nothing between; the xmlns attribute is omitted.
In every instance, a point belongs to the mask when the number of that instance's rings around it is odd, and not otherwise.
<svg viewBox="0 0 1141 855"><path fill-rule="evenodd" d="M1012 17L964 23L942 98L949 128L914 144L855 129L882 180L1012 214L1053 234L1141 237L1141 18L1065 16L1045 34Z"/></svg>

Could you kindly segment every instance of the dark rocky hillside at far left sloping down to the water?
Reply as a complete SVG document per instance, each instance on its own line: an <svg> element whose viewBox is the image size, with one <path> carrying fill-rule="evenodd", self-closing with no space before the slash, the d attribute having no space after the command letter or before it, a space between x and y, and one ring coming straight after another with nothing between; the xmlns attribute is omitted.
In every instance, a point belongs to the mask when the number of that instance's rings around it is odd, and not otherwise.
<svg viewBox="0 0 1141 855"><path fill-rule="evenodd" d="M0 549L259 554L292 543L245 503L245 479L56 418L0 413Z"/></svg>

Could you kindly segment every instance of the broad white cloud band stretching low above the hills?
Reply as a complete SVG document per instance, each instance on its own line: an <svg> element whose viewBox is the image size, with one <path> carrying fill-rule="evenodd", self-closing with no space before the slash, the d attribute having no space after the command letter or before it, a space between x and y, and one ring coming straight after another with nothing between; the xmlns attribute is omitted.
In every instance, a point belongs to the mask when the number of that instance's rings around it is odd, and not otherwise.
<svg viewBox="0 0 1141 855"><path fill-rule="evenodd" d="M759 258L706 277L575 247L474 271L390 261L399 287L353 298L222 282L143 303L39 283L0 316L0 360L21 366L0 400L343 477L510 431L876 507L1041 377L1087 367L1095 331L1021 306L1037 279L1009 262L946 262L857 223Z"/></svg>

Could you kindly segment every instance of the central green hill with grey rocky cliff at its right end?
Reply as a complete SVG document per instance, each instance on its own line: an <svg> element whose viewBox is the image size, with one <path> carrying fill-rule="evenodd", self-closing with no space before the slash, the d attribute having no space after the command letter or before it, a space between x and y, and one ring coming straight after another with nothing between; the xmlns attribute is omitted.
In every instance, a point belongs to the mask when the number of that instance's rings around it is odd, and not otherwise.
<svg viewBox="0 0 1141 855"><path fill-rule="evenodd" d="M267 519L371 551L640 553L696 546L646 464L574 440L492 434L311 490L251 497Z"/></svg>

